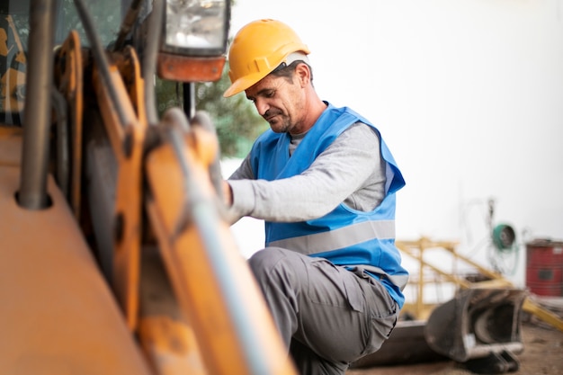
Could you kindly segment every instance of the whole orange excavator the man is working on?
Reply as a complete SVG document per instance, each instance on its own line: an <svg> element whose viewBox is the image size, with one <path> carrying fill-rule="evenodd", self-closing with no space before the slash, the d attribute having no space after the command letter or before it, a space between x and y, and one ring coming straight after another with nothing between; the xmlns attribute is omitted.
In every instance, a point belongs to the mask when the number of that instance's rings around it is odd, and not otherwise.
<svg viewBox="0 0 563 375"><path fill-rule="evenodd" d="M294 374L193 85L228 0L0 0L0 373ZM159 114L156 77L180 105Z"/></svg>

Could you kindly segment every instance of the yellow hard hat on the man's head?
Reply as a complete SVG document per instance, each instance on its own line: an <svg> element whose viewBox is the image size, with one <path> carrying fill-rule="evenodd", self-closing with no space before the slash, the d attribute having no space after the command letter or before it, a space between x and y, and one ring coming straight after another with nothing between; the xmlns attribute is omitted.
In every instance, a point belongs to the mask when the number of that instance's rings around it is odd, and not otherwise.
<svg viewBox="0 0 563 375"><path fill-rule="evenodd" d="M303 56L310 53L295 31L282 22L259 20L246 24L237 32L228 51L228 76L232 85L223 96L228 97L245 91L294 52Z"/></svg>

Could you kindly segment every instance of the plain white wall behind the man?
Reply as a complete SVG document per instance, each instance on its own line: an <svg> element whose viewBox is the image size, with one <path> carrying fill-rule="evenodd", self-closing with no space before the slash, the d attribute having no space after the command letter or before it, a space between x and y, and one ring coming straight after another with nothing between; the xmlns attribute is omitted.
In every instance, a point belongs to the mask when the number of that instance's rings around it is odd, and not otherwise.
<svg viewBox="0 0 563 375"><path fill-rule="evenodd" d="M486 261L489 199L519 241L563 238L563 1L237 0L232 13L233 34L288 23L320 96L379 126L407 180L399 239L457 240Z"/></svg>

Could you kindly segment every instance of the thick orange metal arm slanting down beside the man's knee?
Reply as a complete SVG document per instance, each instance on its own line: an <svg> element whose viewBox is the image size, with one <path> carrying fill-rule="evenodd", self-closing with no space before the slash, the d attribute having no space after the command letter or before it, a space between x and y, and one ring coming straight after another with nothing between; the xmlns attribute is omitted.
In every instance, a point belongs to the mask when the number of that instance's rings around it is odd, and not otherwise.
<svg viewBox="0 0 563 375"><path fill-rule="evenodd" d="M201 357L211 374L250 373L242 351L240 329L236 326L219 285L217 267L210 261L206 243L193 211L217 210L210 182L209 165L217 152L216 140L203 129L183 136L181 156L165 143L147 156L147 180L151 200L147 212L158 238L165 268L170 275L180 306L191 322ZM177 139L176 139L177 140ZM177 151L177 150L176 150ZM190 176L183 175L181 164ZM192 182L196 183L190 183ZM197 215L197 214L196 214ZM228 224L219 215L210 215L208 228L219 241L221 269L227 270L238 307L252 321L255 352L268 367L264 373L295 374L273 319L265 306L246 260L238 253ZM233 296L229 296L233 297Z"/></svg>

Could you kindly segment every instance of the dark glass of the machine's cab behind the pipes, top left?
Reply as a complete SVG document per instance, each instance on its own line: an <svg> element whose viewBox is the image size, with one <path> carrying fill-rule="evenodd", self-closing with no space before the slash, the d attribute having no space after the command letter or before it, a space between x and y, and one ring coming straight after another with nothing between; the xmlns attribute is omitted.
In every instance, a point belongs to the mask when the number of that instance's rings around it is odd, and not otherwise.
<svg viewBox="0 0 563 375"><path fill-rule="evenodd" d="M85 0L103 46L110 45L121 24L123 9L130 0ZM25 75L30 35L29 0L0 0L0 124L22 125L25 102ZM55 45L60 45L71 30L78 31L81 45L89 46L73 0L58 0Z"/></svg>

